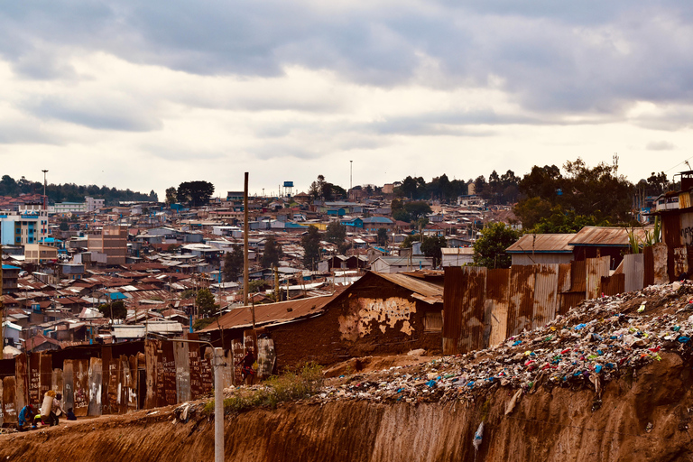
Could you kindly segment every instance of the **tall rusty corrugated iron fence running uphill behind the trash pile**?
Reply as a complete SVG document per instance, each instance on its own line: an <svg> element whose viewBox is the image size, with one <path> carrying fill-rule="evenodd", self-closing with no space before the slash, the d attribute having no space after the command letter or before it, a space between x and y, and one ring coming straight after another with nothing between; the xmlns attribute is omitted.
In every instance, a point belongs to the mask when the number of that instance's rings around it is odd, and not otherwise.
<svg viewBox="0 0 693 462"><path fill-rule="evenodd" d="M666 250L662 244L647 247L650 250L644 254L625 255L624 263L611 276L608 256L560 264L513 265L504 270L447 267L443 354L497 345L525 328L545 325L582 300L662 283L668 255L660 247ZM686 254L679 251L677 255L677 265L683 267Z"/></svg>

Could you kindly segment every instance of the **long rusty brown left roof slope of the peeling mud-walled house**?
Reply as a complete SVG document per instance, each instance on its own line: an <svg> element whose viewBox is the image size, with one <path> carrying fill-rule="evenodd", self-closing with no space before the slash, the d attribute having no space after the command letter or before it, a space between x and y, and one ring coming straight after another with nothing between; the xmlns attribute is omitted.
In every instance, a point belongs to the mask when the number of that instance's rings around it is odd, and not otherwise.
<svg viewBox="0 0 693 462"><path fill-rule="evenodd" d="M279 301L265 305L255 305L255 326L282 324L284 322L322 313L328 302L334 300L341 291L328 297L311 297L309 299ZM221 328L247 328L253 326L251 307L236 308L213 322L200 332L210 332Z"/></svg>

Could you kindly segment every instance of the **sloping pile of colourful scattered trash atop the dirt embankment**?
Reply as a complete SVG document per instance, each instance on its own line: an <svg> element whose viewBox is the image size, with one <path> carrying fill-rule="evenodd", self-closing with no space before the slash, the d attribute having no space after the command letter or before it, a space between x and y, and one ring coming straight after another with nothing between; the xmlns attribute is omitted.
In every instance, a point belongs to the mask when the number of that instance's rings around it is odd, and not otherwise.
<svg viewBox="0 0 693 462"><path fill-rule="evenodd" d="M466 355L423 365L395 366L369 375L341 376L312 400L446 402L474 400L500 386L532 393L544 387L594 387L661 361L664 351L691 352L693 284L674 282L585 300L543 328ZM514 401L514 400L513 400Z"/></svg>

